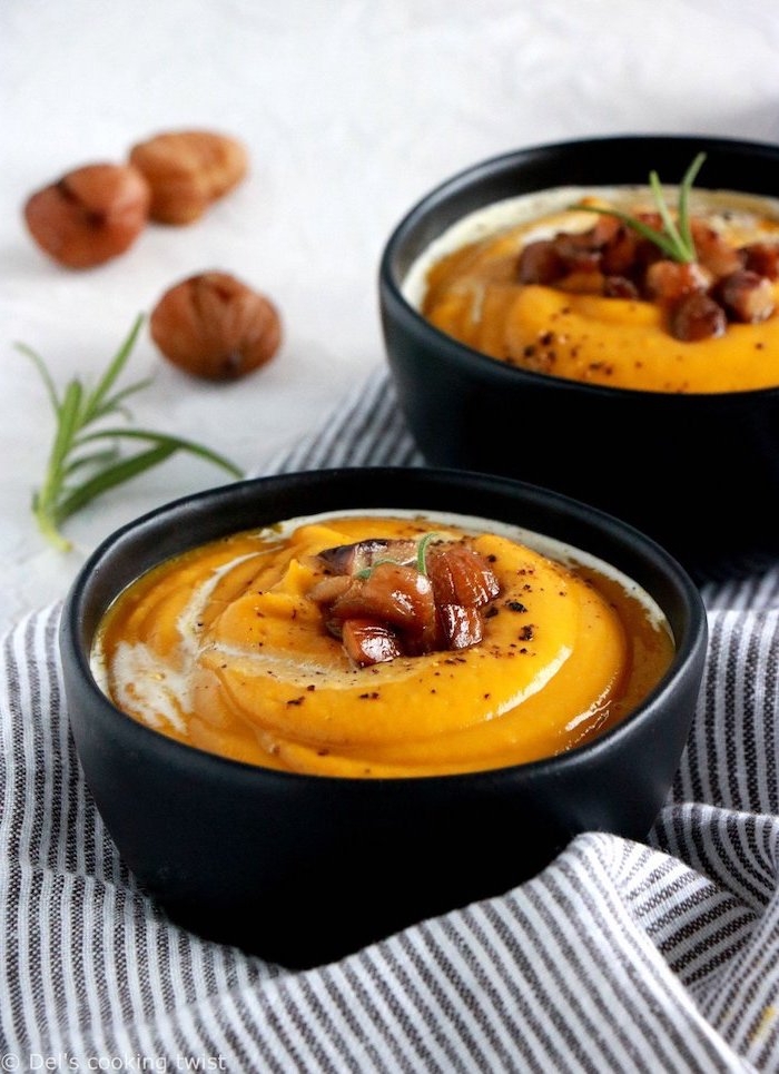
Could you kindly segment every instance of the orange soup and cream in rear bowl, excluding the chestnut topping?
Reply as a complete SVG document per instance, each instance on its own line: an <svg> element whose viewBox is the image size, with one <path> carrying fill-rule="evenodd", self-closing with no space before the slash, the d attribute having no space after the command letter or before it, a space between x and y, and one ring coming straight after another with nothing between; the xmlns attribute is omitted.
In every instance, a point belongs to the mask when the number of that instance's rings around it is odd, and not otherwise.
<svg viewBox="0 0 779 1074"><path fill-rule="evenodd" d="M673 205L678 188L664 190ZM654 207L651 191L640 187L570 187L497 203L465 217L431 245L412 266L404 284L406 297L461 343L535 372L653 392L779 385L776 265L760 285L760 312L749 312L757 319L729 323L719 334L692 341L676 338L669 329L669 303L647 297L642 288L633 294L624 286L612 287L613 294L607 295L603 273L592 265L554 285L523 282L517 266L531 244L581 236L593 228L593 213L571 208L582 201L631 216L651 214ZM702 258L707 233L713 233L718 256L726 247L731 253L762 253L769 247L776 259L779 203L697 189L689 207L702 237ZM660 257L657 249L655 254ZM741 256L740 268L751 264ZM710 294L721 289L708 265L698 283ZM739 298L749 305L743 288Z"/></svg>

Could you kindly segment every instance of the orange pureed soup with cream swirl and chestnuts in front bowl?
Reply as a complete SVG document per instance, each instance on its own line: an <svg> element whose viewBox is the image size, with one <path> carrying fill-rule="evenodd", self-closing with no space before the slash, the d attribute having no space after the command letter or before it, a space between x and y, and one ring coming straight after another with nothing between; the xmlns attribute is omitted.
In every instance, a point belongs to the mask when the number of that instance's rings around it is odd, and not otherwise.
<svg viewBox="0 0 779 1074"><path fill-rule="evenodd" d="M465 515L293 520L206 544L109 609L96 678L135 719L296 772L427 776L569 750L674 646L630 579Z"/></svg>

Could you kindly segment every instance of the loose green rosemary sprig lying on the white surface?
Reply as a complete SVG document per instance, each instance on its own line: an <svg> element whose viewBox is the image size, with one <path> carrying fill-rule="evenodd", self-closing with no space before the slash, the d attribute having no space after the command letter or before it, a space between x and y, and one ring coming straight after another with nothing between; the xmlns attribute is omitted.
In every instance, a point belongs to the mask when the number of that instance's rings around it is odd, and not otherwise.
<svg viewBox="0 0 779 1074"><path fill-rule="evenodd" d="M61 528L72 514L109 489L150 470L178 451L199 455L226 470L233 477L243 477L243 472L228 459L193 441L146 428L95 427L109 415L129 418L126 400L151 383L147 378L114 391L142 322L142 315L136 318L129 335L91 391L78 377L73 377L61 396L40 355L24 344L17 344L17 349L37 366L55 413L55 439L43 481L32 495L32 513L41 533L61 551L71 548ZM140 441L147 446L122 456L119 449L121 441Z"/></svg>

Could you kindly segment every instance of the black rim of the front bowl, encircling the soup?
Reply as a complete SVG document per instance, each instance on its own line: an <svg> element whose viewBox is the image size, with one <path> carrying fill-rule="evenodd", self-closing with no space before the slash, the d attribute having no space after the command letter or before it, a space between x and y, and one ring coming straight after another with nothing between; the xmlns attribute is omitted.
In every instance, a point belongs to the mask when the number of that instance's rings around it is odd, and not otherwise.
<svg viewBox="0 0 779 1074"><path fill-rule="evenodd" d="M88 641L91 643L97 629L97 621L99 621L100 617L109 607L110 600L101 603L98 619L91 630L88 630L83 624L83 619L89 602L93 599L93 590L101 583L103 572L111 566L115 558L125 553L126 548L131 550L135 543L148 539L149 535L154 536L156 531L165 531L170 521L181 514L194 515L195 519L203 519L208 514L218 516L220 506L236 499L240 500L244 496L253 495L256 491L273 495L274 492L284 492L290 484L293 486L302 485L305 487L312 482L321 487L331 487L332 482L346 482L346 486L352 487L353 482L365 480L367 474L371 475L372 480L378 481L379 483L383 479L401 480L404 483L408 481L417 482L420 484L417 495L424 494L423 486L425 489L430 486L438 489L456 487L460 491L467 491L467 489L479 486L484 490L486 495L493 493L511 495L516 499L521 505L530 504L534 511L540 510L542 512L563 514L568 522L573 521L578 526L591 530L593 536L596 535L599 540L603 540L607 543L613 542L615 548L624 550L630 558L645 561L645 569L658 572L658 578L662 578L669 592L673 592L673 599L680 602L683 611L683 637L677 639L678 644L670 667L641 703L614 725L614 727L599 735L596 738L563 753L539 758L538 760L525 761L519 765L506 765L497 768L477 769L466 772L448 772L430 776L371 777L366 779L264 768L247 761L209 752L199 747L169 738L162 732L134 719L116 706L101 690L90 667L89 652L83 644L83 635L85 631L87 631L89 634ZM383 510L389 513L393 510L393 505L396 510L416 510L413 505L410 508L407 503L404 505L395 502L392 497L389 497ZM345 510L353 509L347 509L342 504L324 509L323 511L317 510L312 512L312 514L337 514L339 511ZM421 512L425 510L423 503L418 505L418 510ZM454 509L428 506L427 510ZM464 513L467 514L469 512L464 511ZM298 515L293 515L292 518ZM302 512L299 516L305 516L305 513ZM275 521L285 520L277 519ZM270 524L270 522L256 523L257 526L268 524ZM517 522L516 524L521 525L522 523ZM247 525L247 529L252 529L252 524ZM531 529L531 526L527 526L527 529ZM190 529L188 532L191 534L194 531ZM172 554L180 554L188 549L197 548L199 544L206 543L208 540L214 538L218 539L219 535L226 536L233 532L237 532L235 528L219 529L219 526L217 526L214 535L193 539L183 545L178 553ZM565 539L558 538L558 540L564 541ZM586 549L583 551L586 551ZM604 562L608 562L605 555L602 553L591 552L590 554L596 555ZM150 570L157 563L165 562L168 558L169 555L156 558L154 563L135 573L132 578L140 577L145 571ZM622 573L628 574L625 569L619 569L622 570ZM633 579L633 581L635 581L635 579ZM645 588L643 582L639 582L639 584ZM122 591L124 587L119 587L118 589L116 587L109 587L109 589L111 589L112 592L112 600ZM667 613L667 608L662 607L659 598L654 597L653 599L660 604L663 613ZM59 625L59 651L63 667L69 668L71 674L75 673L79 677L82 689L87 691L92 702L109 713L112 720L119 720L126 733L139 743L148 742L150 748L160 751L169 761L176 762L180 760L184 767L195 769L196 771L200 770L204 777L221 775L224 778L237 778L252 781L262 778L278 784L279 786L317 780L342 788L373 788L372 791L365 791L364 789L356 791L359 794L386 794L388 788L392 792L395 792L395 788L397 788L397 792L402 794L402 788L404 786L407 788L408 785L415 787L424 785L425 788L430 788L432 791L434 787L440 786L442 782L454 785L463 780L467 780L469 784L474 781L476 784L480 781L495 782L502 779L511 779L512 774L517 770L526 772L531 779L534 777L541 778L544 774L554 772L561 767L564 769L575 769L578 766L586 765L590 757L611 748L614 741L628 735L632 725L637 721L650 720L654 709L669 698L679 680L689 674L697 674L698 671L700 671L702 677L707 648L708 617L702 597L687 570L652 538L600 509L589 506L581 501L549 489L490 473L428 466L345 466L268 474L246 477L226 485L206 489L160 504L115 530L92 551L79 570L65 599Z"/></svg>

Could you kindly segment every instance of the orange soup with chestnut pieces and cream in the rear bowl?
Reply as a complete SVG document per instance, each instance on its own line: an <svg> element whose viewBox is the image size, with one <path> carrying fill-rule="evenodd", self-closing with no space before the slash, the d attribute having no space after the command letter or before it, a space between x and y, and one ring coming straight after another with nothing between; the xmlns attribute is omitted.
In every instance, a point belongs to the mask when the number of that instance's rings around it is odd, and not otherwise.
<svg viewBox="0 0 779 1074"><path fill-rule="evenodd" d="M404 289L442 332L520 368L653 392L779 385L779 203L693 189L688 208L694 259L679 264L611 215L661 228L649 187L507 199L450 228Z"/></svg>

